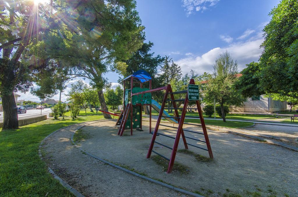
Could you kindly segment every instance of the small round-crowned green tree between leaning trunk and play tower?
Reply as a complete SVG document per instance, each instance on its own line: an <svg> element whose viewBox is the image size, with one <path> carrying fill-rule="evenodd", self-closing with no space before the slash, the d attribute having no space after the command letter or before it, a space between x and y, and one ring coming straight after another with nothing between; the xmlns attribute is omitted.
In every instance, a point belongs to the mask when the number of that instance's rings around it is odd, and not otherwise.
<svg viewBox="0 0 298 197"><path fill-rule="evenodd" d="M111 106L112 110L122 104L123 91L121 91L120 86L118 86L116 90L112 89L111 87L107 88L104 95L107 105Z"/></svg>

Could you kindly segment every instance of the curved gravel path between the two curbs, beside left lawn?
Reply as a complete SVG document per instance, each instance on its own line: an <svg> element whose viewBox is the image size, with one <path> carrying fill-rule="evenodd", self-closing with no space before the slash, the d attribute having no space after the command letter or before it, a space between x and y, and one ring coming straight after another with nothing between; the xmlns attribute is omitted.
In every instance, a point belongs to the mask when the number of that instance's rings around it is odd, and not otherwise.
<svg viewBox="0 0 298 197"><path fill-rule="evenodd" d="M97 124L108 127L107 122ZM109 121L108 124L115 123ZM84 123L56 132L41 149L47 165L80 193L85 196L184 196L83 154L70 140L82 125Z"/></svg>

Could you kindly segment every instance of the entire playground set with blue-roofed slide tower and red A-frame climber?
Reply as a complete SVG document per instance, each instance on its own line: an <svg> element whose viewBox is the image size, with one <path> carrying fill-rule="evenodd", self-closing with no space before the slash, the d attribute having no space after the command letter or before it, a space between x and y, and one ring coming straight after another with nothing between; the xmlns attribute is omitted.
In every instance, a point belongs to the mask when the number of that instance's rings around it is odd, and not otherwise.
<svg viewBox="0 0 298 197"><path fill-rule="evenodd" d="M123 110L119 116L117 123L116 123L116 126L119 125L118 135L122 136L125 129L130 129L131 135L133 134L133 129L137 129L138 131L143 131L142 130L142 106L149 106L149 133L153 134L153 136L151 139L151 143L150 143L150 146L148 149L148 154L147 154L146 158L150 158L151 153L153 152L153 153L163 157L164 159L168 160L169 165L167 168L167 173L170 173L172 171L172 168L174 165L180 136L182 137L185 149L188 149L188 145L196 147L196 148L200 148L202 150L208 151L209 157L213 158L213 154L212 154L212 150L211 150L211 146L210 146L210 142L209 142L209 138L208 138L208 134L207 134L207 129L206 129L206 125L205 125L202 110L201 110L201 104L198 99L199 90L198 90L198 87L195 85L194 79L190 79L190 82L189 82L190 85L189 85L188 90L182 90L182 91L177 91L177 92L172 91L172 87L170 84L167 86L164 86L164 87L151 89L151 87L152 87L151 80L152 80L152 77L144 70L136 71L135 73L133 73L130 76L123 79L123 88L124 88ZM125 89L126 82L130 82L129 89ZM149 82L149 88L143 88L143 84L145 82ZM134 84L140 84L140 86L134 87ZM195 87L195 89L190 89L190 87L192 87L192 88ZM159 105L158 102L152 100L151 93L156 92L156 91L161 91L161 90L165 90L165 93L164 93L162 105ZM185 98L184 99L175 99L174 95L176 95L176 94L185 94ZM170 96L170 98L168 98L169 96ZM199 116L186 115L186 112L188 109L187 106L188 106L189 98L192 98L192 100L195 101L197 108L191 108L191 109L198 110ZM176 105L176 102L181 102L181 101L184 102L183 108L178 108ZM173 106L173 107L165 108L166 102L171 102L172 103L171 106ZM151 126L152 107L153 107L153 109L155 109L156 111L159 112L154 132L151 132L151 129L152 129L152 126ZM174 110L175 116L170 116L165 110ZM178 110L182 110L181 116L179 116ZM161 124L162 118L165 118L172 123L178 124L178 127ZM199 119L201 124L184 122L185 118ZM191 131L188 129L183 129L184 124L202 127L203 132L195 132L195 131ZM158 132L159 126L166 126L166 127L170 127L173 129L177 129L176 137L172 137L169 135L165 135L163 133L159 133ZM195 134L203 135L205 140L195 139L192 137L186 137L184 135L184 132L192 132ZM173 144L173 148L157 142L156 136L158 136L158 135L174 139L175 142ZM207 148L202 148L202 147L187 143L186 138L188 138L190 140L195 140L198 142L206 143ZM171 157L167 158L167 157L163 156L162 154L159 154L158 152L154 151L153 146L155 143L172 150Z"/></svg>

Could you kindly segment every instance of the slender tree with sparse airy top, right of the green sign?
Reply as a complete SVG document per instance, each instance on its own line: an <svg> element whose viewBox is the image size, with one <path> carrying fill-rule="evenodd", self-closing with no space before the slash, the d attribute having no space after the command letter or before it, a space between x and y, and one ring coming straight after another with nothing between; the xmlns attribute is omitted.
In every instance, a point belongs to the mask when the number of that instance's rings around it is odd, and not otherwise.
<svg viewBox="0 0 298 197"><path fill-rule="evenodd" d="M220 104L222 118L226 122L224 104L240 105L245 101L245 98L234 87L234 83L237 81L238 64L226 51L215 60L213 69L213 76L208 80L203 95L205 101L211 103L215 99Z"/></svg>

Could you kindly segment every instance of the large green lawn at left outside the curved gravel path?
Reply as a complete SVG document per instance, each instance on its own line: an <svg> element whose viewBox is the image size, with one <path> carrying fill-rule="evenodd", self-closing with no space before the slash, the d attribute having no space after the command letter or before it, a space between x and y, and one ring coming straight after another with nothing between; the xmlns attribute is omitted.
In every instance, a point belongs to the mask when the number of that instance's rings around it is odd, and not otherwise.
<svg viewBox="0 0 298 197"><path fill-rule="evenodd" d="M38 146L57 129L101 118L102 115L78 116L75 120L65 117L20 129L0 128L0 196L73 196L48 173L45 162L38 156Z"/></svg>

